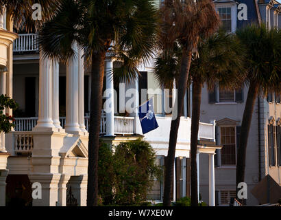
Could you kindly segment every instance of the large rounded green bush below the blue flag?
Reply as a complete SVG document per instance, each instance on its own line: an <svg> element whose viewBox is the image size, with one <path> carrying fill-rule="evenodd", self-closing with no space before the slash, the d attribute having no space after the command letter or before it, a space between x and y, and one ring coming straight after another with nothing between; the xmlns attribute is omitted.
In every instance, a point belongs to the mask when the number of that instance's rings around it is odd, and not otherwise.
<svg viewBox="0 0 281 220"><path fill-rule="evenodd" d="M147 199L162 168L148 142L134 140L117 146L99 147L99 195L103 204L132 205Z"/></svg>

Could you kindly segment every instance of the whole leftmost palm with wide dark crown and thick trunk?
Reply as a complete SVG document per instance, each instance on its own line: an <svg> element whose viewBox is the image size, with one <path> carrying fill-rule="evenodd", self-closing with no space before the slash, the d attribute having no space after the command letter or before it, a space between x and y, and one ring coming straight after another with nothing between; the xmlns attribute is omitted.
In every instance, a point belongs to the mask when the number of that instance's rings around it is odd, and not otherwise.
<svg viewBox="0 0 281 220"><path fill-rule="evenodd" d="M63 0L58 14L40 30L46 56L67 61L74 42L84 50L91 68L87 206L97 206L97 162L104 63L114 55L121 67L114 79L132 80L136 66L154 52L157 10L152 0Z"/></svg>

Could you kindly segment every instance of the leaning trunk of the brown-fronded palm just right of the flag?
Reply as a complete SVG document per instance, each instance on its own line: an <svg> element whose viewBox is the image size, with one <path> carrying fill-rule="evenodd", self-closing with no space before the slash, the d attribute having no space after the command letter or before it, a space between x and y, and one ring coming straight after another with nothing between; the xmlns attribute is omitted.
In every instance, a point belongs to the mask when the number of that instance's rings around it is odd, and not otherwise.
<svg viewBox="0 0 281 220"><path fill-rule="evenodd" d="M180 64L180 77L178 79L178 94L175 100L178 100L178 114L175 120L171 121L170 139L169 139L169 150L166 164L166 172L164 177L164 199L163 205L171 205L171 189L173 182L173 167L175 162L175 146L178 138L178 128L180 125L180 116L182 115L182 109L184 107L184 95L186 93L186 85L188 80L188 73L191 67L191 51L183 50L182 61ZM173 111L174 114L174 111ZM174 118L174 117L173 117Z"/></svg>

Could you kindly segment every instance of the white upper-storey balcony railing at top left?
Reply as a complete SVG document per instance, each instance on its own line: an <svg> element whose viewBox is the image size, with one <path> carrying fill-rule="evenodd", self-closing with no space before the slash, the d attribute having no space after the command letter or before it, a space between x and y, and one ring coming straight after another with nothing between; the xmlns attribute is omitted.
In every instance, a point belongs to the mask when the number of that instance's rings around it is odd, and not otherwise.
<svg viewBox="0 0 281 220"><path fill-rule="evenodd" d="M19 34L14 41L14 52L38 52L38 34Z"/></svg>

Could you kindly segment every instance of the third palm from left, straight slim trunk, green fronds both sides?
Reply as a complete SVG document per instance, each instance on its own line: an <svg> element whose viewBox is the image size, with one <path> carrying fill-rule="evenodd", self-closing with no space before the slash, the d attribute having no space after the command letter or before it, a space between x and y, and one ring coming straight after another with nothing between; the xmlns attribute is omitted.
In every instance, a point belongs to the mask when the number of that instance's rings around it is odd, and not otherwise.
<svg viewBox="0 0 281 220"><path fill-rule="evenodd" d="M174 45L172 54L161 54L156 61L155 76L160 85L171 85L178 79L181 48ZM193 57L190 79L193 82L193 115L191 118L191 205L198 205L197 198L197 137L201 105L201 88L207 83L213 89L217 83L222 89L241 87L243 48L234 35L223 30L209 38L199 39L197 54ZM177 80L178 81L178 80Z"/></svg>

